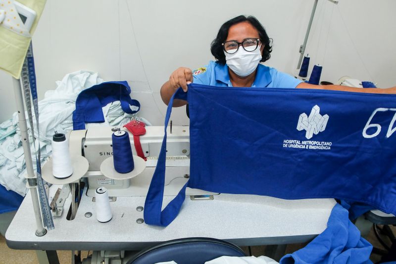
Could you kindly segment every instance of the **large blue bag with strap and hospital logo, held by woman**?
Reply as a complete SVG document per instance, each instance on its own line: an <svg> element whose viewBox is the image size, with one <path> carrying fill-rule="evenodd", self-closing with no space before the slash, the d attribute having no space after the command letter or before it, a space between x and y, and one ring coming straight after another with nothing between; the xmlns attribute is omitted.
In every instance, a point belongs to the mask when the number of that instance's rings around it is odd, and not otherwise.
<svg viewBox="0 0 396 264"><path fill-rule="evenodd" d="M166 127L190 106L190 179L165 207ZM396 214L396 95L190 84L172 96L148 190L147 224L167 226L186 187L282 199L336 198Z"/></svg>

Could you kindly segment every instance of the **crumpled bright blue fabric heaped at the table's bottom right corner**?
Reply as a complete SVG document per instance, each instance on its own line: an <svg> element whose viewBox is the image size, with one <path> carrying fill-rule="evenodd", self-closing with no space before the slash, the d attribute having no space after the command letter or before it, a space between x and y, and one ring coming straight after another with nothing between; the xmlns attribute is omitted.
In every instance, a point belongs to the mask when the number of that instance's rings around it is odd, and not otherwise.
<svg viewBox="0 0 396 264"><path fill-rule="evenodd" d="M348 211L336 204L327 228L305 248L283 257L280 264L360 264L369 260L373 246L360 237Z"/></svg>

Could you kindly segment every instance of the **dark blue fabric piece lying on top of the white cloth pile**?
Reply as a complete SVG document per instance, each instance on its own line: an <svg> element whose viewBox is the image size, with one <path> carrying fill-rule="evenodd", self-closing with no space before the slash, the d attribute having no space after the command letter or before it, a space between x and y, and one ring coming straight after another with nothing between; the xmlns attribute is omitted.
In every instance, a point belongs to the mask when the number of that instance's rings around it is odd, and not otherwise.
<svg viewBox="0 0 396 264"><path fill-rule="evenodd" d="M121 108L126 113L138 112L140 103L133 100L130 93L131 88L126 81L104 82L83 90L76 100L73 130L85 129L85 123L104 122L102 107L114 101L120 101Z"/></svg>

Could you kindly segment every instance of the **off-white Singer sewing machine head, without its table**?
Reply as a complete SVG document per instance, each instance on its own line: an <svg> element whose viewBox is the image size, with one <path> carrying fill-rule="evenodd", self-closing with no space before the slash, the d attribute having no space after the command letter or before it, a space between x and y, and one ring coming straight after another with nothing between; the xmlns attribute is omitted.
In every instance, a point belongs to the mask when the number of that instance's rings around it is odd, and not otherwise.
<svg viewBox="0 0 396 264"><path fill-rule="evenodd" d="M88 159L89 168L84 177L88 177L87 195L95 196L98 187L105 187L108 195L119 196L146 196L151 177L157 163L162 140L164 137L163 126L148 126L146 134L140 136L143 153L147 158L146 169L138 176L126 179L110 179L100 172L100 164L112 156L112 127L93 127L86 131L81 139L82 155ZM123 128L125 131L127 129ZM75 131L70 133L70 142ZM133 155L137 155L133 135L129 132ZM175 196L190 177L190 133L188 126L173 126L172 133L168 128L167 160L165 178L165 196ZM74 143L75 144L75 143ZM187 188L187 195L213 194L197 189Z"/></svg>

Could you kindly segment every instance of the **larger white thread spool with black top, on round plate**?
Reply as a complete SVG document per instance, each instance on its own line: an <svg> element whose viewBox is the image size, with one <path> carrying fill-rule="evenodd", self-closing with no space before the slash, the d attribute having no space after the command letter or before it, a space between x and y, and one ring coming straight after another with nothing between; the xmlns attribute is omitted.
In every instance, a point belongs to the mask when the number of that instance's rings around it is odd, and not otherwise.
<svg viewBox="0 0 396 264"><path fill-rule="evenodd" d="M57 133L52 136L52 175L58 179L66 179L73 174L71 165L69 141L65 134Z"/></svg>

